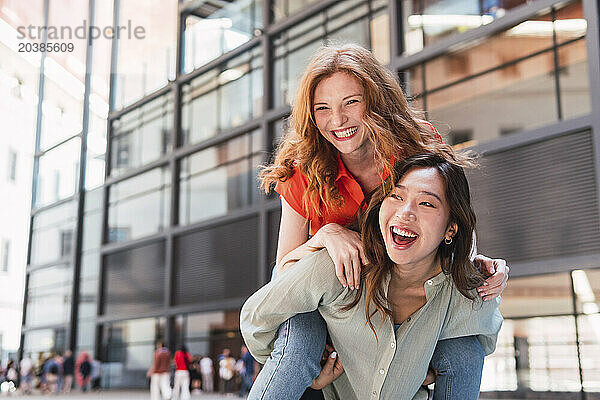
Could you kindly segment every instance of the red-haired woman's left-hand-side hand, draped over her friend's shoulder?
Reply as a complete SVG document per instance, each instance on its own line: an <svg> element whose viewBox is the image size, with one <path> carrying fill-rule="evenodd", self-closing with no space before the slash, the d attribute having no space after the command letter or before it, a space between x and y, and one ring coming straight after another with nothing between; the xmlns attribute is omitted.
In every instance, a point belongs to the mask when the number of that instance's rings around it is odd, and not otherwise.
<svg viewBox="0 0 600 400"><path fill-rule="evenodd" d="M352 290L358 289L361 266L367 264L358 232L331 223L321 227L313 239L327 249L340 283Z"/></svg>

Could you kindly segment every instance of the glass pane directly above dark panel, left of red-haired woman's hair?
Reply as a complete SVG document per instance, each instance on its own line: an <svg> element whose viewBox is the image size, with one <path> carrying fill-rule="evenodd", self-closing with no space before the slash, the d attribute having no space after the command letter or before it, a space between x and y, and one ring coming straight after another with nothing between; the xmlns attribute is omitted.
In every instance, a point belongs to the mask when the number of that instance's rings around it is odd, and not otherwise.
<svg viewBox="0 0 600 400"><path fill-rule="evenodd" d="M182 160L180 224L222 215L258 201L255 178L262 163L260 137L260 131L254 131Z"/></svg>

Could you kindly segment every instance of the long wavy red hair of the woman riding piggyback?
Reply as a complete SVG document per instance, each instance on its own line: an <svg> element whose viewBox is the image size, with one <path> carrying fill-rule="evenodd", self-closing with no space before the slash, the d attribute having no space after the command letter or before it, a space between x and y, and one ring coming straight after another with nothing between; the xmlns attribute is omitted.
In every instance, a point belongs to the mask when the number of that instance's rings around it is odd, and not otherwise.
<svg viewBox="0 0 600 400"><path fill-rule="evenodd" d="M374 161L382 174L383 171L393 174L391 159L401 160L424 152L453 154L450 146L440 143L438 137L419 122L417 112L408 106L394 74L370 51L355 44L322 47L302 75L289 128L275 159L264 166L259 175L261 187L269 192L278 181L290 178L294 167L298 167L309 181L303 196L304 209L314 210L319 216L321 206L335 210L343 201L335 186L337 150L319 133L313 113L317 85L336 72L354 76L364 88L366 104L362 122L375 149Z"/></svg>

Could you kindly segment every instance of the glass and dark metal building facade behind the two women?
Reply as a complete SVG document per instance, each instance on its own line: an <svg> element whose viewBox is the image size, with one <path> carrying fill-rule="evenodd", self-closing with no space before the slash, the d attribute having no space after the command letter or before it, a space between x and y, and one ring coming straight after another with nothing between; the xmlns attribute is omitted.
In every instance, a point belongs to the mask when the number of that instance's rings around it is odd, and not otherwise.
<svg viewBox="0 0 600 400"><path fill-rule="evenodd" d="M310 56L353 42L482 155L479 250L511 265L482 398L600 398L596 0L42 3L145 37L41 57L22 352L91 352L111 388L146 385L158 338L235 356L277 245L258 168Z"/></svg>

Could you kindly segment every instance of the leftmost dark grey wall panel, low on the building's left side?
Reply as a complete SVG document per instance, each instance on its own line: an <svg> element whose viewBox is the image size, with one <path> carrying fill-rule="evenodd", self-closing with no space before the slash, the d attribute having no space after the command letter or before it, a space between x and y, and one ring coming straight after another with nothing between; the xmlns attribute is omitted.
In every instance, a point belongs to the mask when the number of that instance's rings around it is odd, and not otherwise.
<svg viewBox="0 0 600 400"><path fill-rule="evenodd" d="M105 257L104 314L151 311L164 304L165 244L152 243Z"/></svg>

